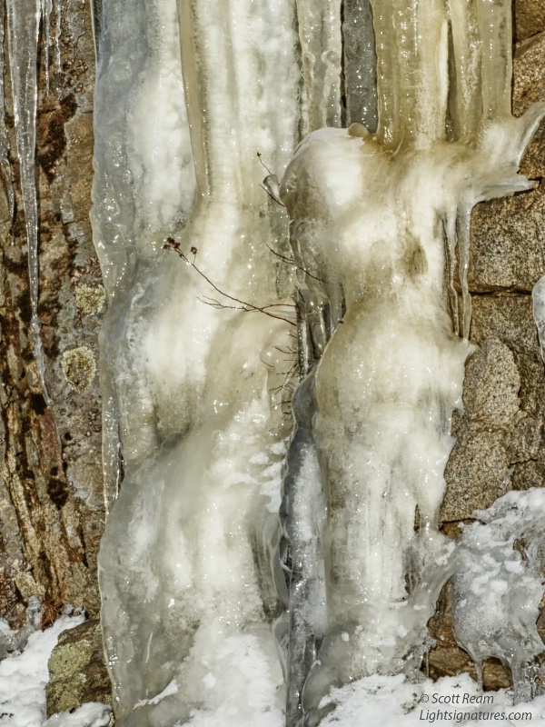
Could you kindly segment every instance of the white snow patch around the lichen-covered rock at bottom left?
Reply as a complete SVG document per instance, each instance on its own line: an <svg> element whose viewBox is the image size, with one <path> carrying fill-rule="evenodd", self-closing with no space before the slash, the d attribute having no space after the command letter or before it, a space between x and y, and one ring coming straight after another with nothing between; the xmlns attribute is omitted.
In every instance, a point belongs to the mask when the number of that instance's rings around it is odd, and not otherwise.
<svg viewBox="0 0 545 727"><path fill-rule="evenodd" d="M73 713L45 721L47 662L59 635L84 622L83 616L62 616L44 632L31 633L23 652L0 662L0 727L105 727L110 707L89 702ZM3 629L4 631L4 629Z"/></svg>

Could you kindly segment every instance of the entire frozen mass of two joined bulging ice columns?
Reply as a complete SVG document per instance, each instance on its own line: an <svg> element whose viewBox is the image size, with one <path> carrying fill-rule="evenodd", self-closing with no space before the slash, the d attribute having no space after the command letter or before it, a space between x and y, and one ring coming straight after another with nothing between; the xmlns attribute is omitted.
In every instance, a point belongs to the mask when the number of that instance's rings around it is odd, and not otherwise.
<svg viewBox="0 0 545 727"><path fill-rule="evenodd" d="M506 0L341 5L94 4L121 727L275 725L281 664L289 727L317 724L332 687L418 664L450 573L471 208L530 187L544 112L510 115Z"/></svg>

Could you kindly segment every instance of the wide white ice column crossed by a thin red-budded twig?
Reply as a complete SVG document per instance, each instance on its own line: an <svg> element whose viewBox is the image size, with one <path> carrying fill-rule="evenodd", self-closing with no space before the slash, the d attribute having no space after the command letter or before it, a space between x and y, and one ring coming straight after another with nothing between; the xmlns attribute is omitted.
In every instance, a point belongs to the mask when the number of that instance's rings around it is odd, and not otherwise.
<svg viewBox="0 0 545 727"><path fill-rule="evenodd" d="M265 726L282 720L267 547L291 428L279 394L294 310L269 249L282 208L260 186L257 153L284 168L296 142L292 4L180 4L189 120L175 3L96 10L108 501L117 423L124 458L100 553L116 722L167 727L200 710ZM196 201L183 230L188 127ZM169 235L184 259L163 250Z"/></svg>

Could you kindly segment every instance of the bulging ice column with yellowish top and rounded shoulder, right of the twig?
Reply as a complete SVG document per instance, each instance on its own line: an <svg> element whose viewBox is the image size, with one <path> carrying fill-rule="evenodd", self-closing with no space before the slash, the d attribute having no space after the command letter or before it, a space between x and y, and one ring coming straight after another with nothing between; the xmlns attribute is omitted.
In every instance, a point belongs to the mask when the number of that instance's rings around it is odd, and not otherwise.
<svg viewBox="0 0 545 727"><path fill-rule="evenodd" d="M420 663L448 576L437 518L470 351L471 208L531 186L517 170L544 113L510 115L510 2L374 0L372 11L377 133L311 134L281 188L302 284L329 300L335 327L311 374L328 513L308 725L333 684Z"/></svg>

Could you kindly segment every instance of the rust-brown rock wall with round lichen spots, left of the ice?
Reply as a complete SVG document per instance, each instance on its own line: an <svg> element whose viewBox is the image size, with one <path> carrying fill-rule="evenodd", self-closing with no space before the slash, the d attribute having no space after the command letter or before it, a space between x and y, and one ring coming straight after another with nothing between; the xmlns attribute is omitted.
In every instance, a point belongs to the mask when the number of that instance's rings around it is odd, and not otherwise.
<svg viewBox="0 0 545 727"><path fill-rule="evenodd" d="M88 3L63 0L61 11L58 58L57 18L52 17L49 93L41 44L36 145L39 317L51 407L28 334L25 215L4 49L15 213L5 178L0 194L0 616L14 625L23 620L32 595L44 602L44 624L65 604L82 606L91 616L100 608L96 553L104 500L95 373L104 290L89 223L94 43Z"/></svg>

